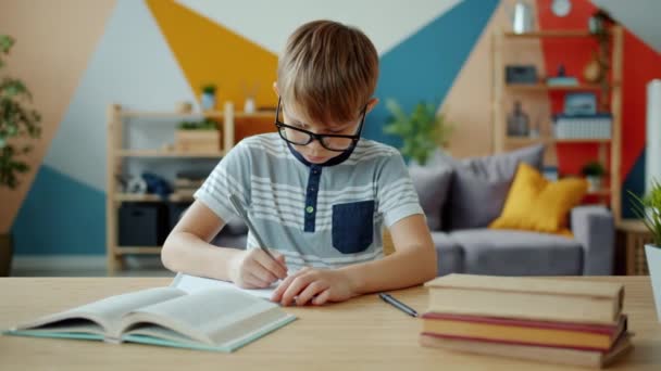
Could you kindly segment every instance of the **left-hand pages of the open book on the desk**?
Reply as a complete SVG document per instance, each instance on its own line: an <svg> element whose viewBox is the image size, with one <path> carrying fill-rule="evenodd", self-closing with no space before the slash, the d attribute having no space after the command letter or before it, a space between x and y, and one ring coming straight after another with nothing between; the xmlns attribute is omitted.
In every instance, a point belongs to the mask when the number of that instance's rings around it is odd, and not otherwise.
<svg viewBox="0 0 661 371"><path fill-rule="evenodd" d="M121 322L122 317L140 307L169 300L186 295L174 287L155 287L132 292L127 294L109 296L79 307L75 307L54 315L39 318L35 321L21 324L12 330L37 330L86 332L112 332L112 328Z"/></svg>

